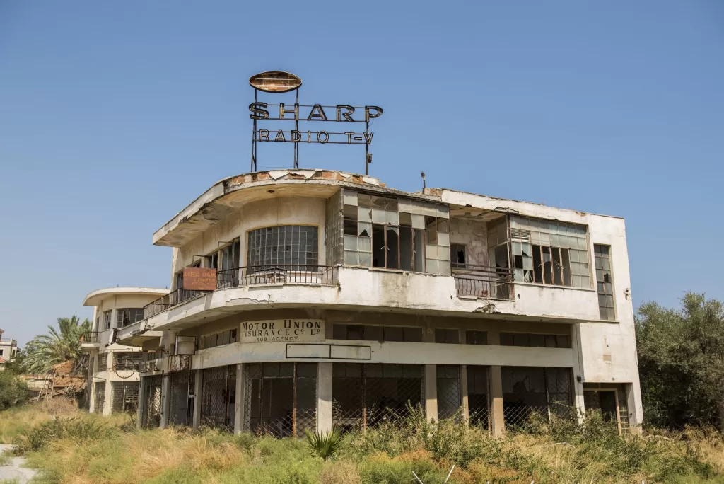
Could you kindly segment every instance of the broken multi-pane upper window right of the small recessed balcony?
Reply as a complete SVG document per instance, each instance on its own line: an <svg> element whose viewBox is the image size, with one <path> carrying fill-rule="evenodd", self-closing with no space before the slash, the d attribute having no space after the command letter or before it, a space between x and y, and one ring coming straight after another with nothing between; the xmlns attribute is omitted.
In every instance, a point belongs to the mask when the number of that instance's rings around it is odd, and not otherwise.
<svg viewBox="0 0 724 484"><path fill-rule="evenodd" d="M585 225L510 217L515 280L591 287Z"/></svg>

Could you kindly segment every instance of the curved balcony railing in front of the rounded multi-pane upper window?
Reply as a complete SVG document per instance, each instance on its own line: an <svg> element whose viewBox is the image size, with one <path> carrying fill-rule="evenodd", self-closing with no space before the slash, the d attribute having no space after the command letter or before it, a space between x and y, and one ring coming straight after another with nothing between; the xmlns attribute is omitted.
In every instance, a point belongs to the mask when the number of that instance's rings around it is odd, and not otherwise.
<svg viewBox="0 0 724 484"><path fill-rule="evenodd" d="M337 282L337 267L310 264L271 264L235 267L216 272L216 288L260 284L319 284Z"/></svg>

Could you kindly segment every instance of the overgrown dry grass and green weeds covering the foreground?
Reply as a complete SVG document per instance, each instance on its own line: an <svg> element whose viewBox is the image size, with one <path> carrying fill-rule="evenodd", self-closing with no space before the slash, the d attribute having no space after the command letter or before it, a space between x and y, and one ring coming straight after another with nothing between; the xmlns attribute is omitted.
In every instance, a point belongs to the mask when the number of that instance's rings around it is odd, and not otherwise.
<svg viewBox="0 0 724 484"><path fill-rule="evenodd" d="M49 402L51 403L51 402ZM329 459L306 439L217 430L135 430L125 415L101 418L41 404L0 414L0 438L17 443L41 483L724 483L724 442L712 431L621 437L599 414L585 425L531 422L496 440L421 412L398 425L345 433Z"/></svg>

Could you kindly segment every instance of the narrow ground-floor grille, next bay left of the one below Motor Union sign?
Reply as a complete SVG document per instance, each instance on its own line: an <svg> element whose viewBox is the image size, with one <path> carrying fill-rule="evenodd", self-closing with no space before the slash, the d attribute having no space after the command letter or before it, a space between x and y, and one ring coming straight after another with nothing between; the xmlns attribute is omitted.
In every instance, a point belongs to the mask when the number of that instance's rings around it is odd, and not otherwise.
<svg viewBox="0 0 724 484"><path fill-rule="evenodd" d="M236 365L207 368L201 373L201 425L234 430Z"/></svg>

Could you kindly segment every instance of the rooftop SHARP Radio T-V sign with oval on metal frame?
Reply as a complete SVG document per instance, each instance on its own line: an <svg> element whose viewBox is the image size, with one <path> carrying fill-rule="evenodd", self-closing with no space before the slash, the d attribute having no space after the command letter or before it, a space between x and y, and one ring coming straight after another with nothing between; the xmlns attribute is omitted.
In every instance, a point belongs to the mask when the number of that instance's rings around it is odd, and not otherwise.
<svg viewBox="0 0 724 484"><path fill-rule="evenodd" d="M299 167L299 143L320 144L362 144L365 146L365 174L368 164L372 162L369 145L372 143L374 133L369 130L369 123L382 116L379 106L350 106L349 104L335 104L323 106L321 104L299 104L299 88L302 80L289 72L269 71L261 72L249 78L249 85L254 88L254 102L249 104L249 117L253 120L254 128L251 140L251 171L256 171L257 143L294 143L294 167ZM258 91L266 93L286 93L295 91L293 104L269 104L258 101ZM294 122L294 129L257 129L259 121L290 121ZM365 130L342 128L339 131L331 130L300 130L300 122L343 122L365 123ZM283 128L283 127L282 127Z"/></svg>

